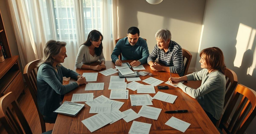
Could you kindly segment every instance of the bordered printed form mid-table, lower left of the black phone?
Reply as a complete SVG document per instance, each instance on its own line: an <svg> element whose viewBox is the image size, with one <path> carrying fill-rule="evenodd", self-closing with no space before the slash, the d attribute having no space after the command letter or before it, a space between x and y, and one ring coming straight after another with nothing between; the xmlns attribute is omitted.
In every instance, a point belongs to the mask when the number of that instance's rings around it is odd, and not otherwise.
<svg viewBox="0 0 256 134"><path fill-rule="evenodd" d="M132 106L153 105L149 94L146 94L146 95L130 95L130 100L131 100Z"/></svg>

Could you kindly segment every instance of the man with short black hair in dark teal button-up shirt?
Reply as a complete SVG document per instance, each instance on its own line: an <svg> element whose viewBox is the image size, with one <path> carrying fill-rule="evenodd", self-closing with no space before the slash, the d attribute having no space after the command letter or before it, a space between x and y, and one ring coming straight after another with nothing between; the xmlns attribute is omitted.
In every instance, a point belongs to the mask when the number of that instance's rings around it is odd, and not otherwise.
<svg viewBox="0 0 256 134"><path fill-rule="evenodd" d="M114 48L111 59L117 65L121 66L121 60L139 59L130 63L131 66L139 66L147 62L149 56L148 44L145 39L140 38L140 31L137 27L130 27L127 37L120 39ZM120 60L118 56L122 54Z"/></svg>

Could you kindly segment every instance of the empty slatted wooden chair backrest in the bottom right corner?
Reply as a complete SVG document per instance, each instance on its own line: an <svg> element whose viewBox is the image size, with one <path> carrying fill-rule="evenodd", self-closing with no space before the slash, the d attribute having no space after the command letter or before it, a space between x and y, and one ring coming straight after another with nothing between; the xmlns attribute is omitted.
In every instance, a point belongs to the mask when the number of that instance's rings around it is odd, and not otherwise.
<svg viewBox="0 0 256 134"><path fill-rule="evenodd" d="M239 102L230 123L228 120L230 115L235 109L235 105L239 100L239 96L243 95L242 100ZM249 110L251 106L251 109ZM243 134L253 118L256 116L256 92L244 85L238 84L236 90L231 97L227 109L220 121L220 129L224 129L227 133ZM241 111L242 110L242 111ZM249 110L249 111L248 111ZM247 113L247 114L246 114Z"/></svg>

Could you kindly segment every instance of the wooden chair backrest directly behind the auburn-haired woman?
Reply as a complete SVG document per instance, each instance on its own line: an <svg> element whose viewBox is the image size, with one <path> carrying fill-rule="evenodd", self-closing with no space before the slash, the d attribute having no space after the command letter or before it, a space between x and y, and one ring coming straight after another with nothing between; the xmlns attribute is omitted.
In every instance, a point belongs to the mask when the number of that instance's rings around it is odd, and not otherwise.
<svg viewBox="0 0 256 134"><path fill-rule="evenodd" d="M225 76L226 76L226 94L225 94L224 107L226 106L227 102L229 101L229 99L237 85L237 75L234 71L232 71L230 69L226 69Z"/></svg>

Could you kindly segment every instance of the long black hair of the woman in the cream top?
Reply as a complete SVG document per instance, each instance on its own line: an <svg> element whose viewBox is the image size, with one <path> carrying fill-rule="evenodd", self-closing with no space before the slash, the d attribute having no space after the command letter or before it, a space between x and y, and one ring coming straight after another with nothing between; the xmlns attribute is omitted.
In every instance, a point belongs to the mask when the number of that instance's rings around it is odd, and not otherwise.
<svg viewBox="0 0 256 134"><path fill-rule="evenodd" d="M102 45L102 40L103 40L103 36L100 33L100 31L97 30L92 30L87 37L87 40L84 42L84 44L82 45L87 45L88 47L91 46L91 41L98 41L100 39L101 36L101 42L100 42L100 46L98 48L94 48L95 49L95 54L97 56L100 56L102 51L103 51L103 45Z"/></svg>

